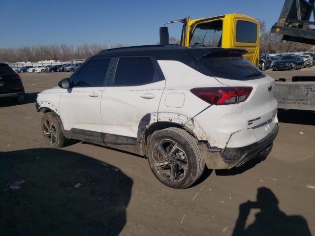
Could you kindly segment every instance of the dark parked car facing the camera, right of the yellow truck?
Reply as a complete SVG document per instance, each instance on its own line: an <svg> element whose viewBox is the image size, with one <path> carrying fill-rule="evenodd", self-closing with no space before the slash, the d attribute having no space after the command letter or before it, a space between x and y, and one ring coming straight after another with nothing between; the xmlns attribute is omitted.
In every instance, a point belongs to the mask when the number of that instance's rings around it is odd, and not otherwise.
<svg viewBox="0 0 315 236"><path fill-rule="evenodd" d="M273 63L272 70L303 69L304 60L299 55L284 55Z"/></svg>

